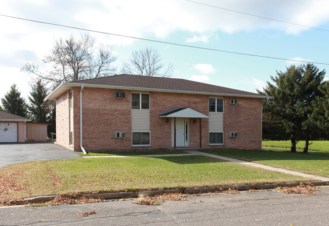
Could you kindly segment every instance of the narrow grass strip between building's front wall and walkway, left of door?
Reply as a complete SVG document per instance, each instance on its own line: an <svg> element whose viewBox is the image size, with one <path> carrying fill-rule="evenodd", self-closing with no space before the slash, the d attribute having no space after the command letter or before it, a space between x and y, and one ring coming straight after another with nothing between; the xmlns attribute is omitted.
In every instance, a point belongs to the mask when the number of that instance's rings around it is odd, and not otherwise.
<svg viewBox="0 0 329 226"><path fill-rule="evenodd" d="M130 151L130 152L77 152L81 156L107 156L107 155L163 155L163 154L188 154L181 151L163 151L163 150L146 150L146 151Z"/></svg>

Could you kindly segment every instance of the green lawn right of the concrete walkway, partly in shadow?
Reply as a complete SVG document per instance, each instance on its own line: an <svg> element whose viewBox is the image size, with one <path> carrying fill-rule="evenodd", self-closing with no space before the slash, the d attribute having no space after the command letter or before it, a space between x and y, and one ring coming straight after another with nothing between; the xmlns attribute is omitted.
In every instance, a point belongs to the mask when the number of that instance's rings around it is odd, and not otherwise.
<svg viewBox="0 0 329 226"><path fill-rule="evenodd" d="M216 150L208 153L329 177L329 152L303 154L283 148L269 149L273 151Z"/></svg>

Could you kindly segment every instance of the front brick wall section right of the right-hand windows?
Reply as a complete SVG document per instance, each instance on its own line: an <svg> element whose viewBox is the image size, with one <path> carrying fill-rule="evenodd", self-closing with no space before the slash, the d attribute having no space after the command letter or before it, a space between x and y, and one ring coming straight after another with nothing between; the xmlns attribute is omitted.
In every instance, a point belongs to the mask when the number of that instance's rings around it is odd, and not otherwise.
<svg viewBox="0 0 329 226"><path fill-rule="evenodd" d="M262 100L236 98L238 104L229 104L233 97L224 97L224 144L236 149L262 149ZM229 132L238 132L230 138Z"/></svg>

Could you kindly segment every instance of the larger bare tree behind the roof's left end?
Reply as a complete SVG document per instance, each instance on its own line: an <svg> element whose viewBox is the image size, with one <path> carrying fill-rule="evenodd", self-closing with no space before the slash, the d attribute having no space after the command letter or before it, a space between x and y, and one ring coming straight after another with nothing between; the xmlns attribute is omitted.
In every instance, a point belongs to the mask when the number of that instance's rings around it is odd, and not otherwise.
<svg viewBox="0 0 329 226"><path fill-rule="evenodd" d="M44 63L51 69L41 72L38 65L27 62L22 71L37 75L46 82L58 85L63 81L76 81L88 78L108 76L115 73L112 63L116 60L111 49L101 45L95 51L95 39L88 33L79 39L70 35L67 39L55 40L50 54L44 58Z"/></svg>

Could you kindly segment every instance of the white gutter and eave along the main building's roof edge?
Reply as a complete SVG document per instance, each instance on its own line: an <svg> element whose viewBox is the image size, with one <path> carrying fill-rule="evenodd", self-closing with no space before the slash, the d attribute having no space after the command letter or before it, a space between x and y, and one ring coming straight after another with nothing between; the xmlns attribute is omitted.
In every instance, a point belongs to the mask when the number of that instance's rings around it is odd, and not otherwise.
<svg viewBox="0 0 329 226"><path fill-rule="evenodd" d="M145 87L130 87L130 86L116 86L116 85L99 85L99 84L85 84L78 82L63 82L61 83L51 94L48 95L47 99L52 99L57 92L60 91L61 88L67 86L67 90L69 87L73 86L81 86L85 85L86 87L92 88L113 88L113 89L130 89L134 91L154 91L154 92L166 92L166 93L181 93L181 94L202 94L202 95L216 95L216 96L228 96L228 97L249 97L249 98L260 98L267 99L273 98L268 96L257 96L257 95L248 95L248 94L223 94L223 93L210 93L210 92L199 92L199 91L181 91L175 89L162 89L162 88L145 88ZM57 98L57 97L56 97Z"/></svg>

